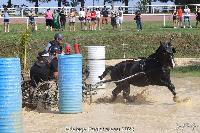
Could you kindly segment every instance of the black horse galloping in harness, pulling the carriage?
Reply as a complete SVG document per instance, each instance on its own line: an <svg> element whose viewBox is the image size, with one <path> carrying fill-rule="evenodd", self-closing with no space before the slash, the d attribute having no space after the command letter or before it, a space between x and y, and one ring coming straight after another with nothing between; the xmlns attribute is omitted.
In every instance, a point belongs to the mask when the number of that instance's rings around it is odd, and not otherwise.
<svg viewBox="0 0 200 133"><path fill-rule="evenodd" d="M123 97L131 101L130 84L138 87L166 86L176 98L175 87L170 80L170 68L175 66L174 53L175 49L171 46L171 42L160 42L159 48L149 57L126 60L115 66L109 66L99 78L102 80L110 72L111 79L102 82L115 82L116 88L112 91L112 101L122 90Z"/></svg>

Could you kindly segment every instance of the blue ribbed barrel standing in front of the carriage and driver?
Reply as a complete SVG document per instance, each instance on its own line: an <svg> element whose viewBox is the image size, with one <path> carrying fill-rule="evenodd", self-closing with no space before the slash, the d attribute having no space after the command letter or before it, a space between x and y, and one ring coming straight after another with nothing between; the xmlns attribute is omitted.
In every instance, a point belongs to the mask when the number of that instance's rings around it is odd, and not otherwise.
<svg viewBox="0 0 200 133"><path fill-rule="evenodd" d="M82 55L58 56L60 113L82 112Z"/></svg>

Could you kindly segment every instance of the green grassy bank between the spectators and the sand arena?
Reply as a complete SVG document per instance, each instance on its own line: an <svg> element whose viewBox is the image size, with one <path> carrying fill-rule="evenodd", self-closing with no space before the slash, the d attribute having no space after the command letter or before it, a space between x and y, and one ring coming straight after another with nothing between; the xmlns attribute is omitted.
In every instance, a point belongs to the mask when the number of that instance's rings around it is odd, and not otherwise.
<svg viewBox="0 0 200 133"><path fill-rule="evenodd" d="M104 27L101 31L81 31L77 24L76 32L64 31L65 42L73 46L74 43L81 44L81 52L86 58L88 45L106 46L106 58L123 58L125 51L126 58L146 57L153 53L159 46L160 41L169 41L173 36L172 45L176 48L175 57L200 57L200 34L199 29L169 29L162 28L161 23L146 23L141 32L135 30L135 24L124 23L124 30L113 31L111 26ZM9 33L0 32L0 56L19 56L20 37L25 31L26 25L11 25ZM30 32L29 64L36 59L38 51L45 48L48 41L53 39L56 32L44 30L44 25L38 26L39 31ZM0 28L2 31L2 27ZM123 49L121 44L128 44ZM64 44L63 44L64 46ZM72 48L73 51L73 48Z"/></svg>

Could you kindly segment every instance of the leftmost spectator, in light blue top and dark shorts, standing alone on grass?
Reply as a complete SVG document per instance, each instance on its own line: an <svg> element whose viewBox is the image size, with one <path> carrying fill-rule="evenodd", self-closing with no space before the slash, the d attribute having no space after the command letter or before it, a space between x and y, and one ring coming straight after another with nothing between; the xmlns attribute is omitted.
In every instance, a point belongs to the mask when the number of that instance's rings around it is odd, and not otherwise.
<svg viewBox="0 0 200 133"><path fill-rule="evenodd" d="M10 22L10 17L9 17L9 14L8 14L8 9L7 7L4 8L4 11L3 11L3 26L4 26L4 32L9 32L9 22Z"/></svg>

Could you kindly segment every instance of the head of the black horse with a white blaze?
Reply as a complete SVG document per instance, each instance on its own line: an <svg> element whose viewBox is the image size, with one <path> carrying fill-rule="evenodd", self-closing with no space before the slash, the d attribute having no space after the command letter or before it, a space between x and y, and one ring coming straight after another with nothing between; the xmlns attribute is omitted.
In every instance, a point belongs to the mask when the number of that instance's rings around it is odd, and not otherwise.
<svg viewBox="0 0 200 133"><path fill-rule="evenodd" d="M160 42L159 48L156 50L159 61L168 67L174 68L174 53L175 49L172 47L171 42Z"/></svg>

